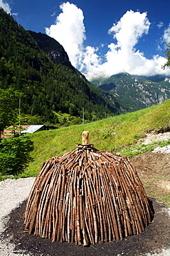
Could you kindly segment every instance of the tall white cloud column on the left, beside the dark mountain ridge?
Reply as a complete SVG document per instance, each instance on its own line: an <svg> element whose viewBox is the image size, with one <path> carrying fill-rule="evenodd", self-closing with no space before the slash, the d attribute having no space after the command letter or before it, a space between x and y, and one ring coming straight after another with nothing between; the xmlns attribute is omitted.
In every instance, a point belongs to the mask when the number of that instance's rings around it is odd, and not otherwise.
<svg viewBox="0 0 170 256"><path fill-rule="evenodd" d="M54 37L67 51L73 66L81 64L85 26L83 11L73 3L63 3L61 14L56 17L56 24L45 28L47 35Z"/></svg>

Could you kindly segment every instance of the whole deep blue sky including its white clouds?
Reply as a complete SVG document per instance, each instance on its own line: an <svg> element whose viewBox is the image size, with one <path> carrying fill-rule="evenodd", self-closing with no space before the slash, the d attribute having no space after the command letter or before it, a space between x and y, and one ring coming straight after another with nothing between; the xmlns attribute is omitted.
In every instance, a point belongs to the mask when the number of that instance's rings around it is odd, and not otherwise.
<svg viewBox="0 0 170 256"><path fill-rule="evenodd" d="M170 75L169 0L0 0L26 30L47 33L63 45L89 80L99 75Z"/></svg>

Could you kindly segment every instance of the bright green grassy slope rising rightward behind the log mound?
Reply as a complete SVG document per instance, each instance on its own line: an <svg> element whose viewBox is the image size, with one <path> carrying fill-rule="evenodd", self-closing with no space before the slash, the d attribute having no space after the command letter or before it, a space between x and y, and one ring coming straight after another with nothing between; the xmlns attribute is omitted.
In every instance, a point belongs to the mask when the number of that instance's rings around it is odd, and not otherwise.
<svg viewBox="0 0 170 256"><path fill-rule="evenodd" d="M148 146L141 146L132 154L134 151L132 148L137 148L138 138L145 136L145 132L151 129L159 130L162 127L169 127L169 120L170 100L167 100L157 106L133 113L89 122L85 125L31 134L30 138L34 142L31 156L34 162L30 163L23 175L36 176L43 161L75 149L76 144L81 143L82 132L86 130L90 132L89 143L93 143L97 149L106 149L128 156L149 151Z"/></svg>

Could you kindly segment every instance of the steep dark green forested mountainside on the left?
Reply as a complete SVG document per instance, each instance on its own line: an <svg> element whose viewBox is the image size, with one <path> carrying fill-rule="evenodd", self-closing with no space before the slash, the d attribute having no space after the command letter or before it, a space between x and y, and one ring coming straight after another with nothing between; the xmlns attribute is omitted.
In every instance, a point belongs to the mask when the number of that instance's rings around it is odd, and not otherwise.
<svg viewBox="0 0 170 256"><path fill-rule="evenodd" d="M21 112L55 124L55 112L85 119L120 113L113 95L91 86L61 46L41 33L26 31L0 9L0 89L22 93Z"/></svg>

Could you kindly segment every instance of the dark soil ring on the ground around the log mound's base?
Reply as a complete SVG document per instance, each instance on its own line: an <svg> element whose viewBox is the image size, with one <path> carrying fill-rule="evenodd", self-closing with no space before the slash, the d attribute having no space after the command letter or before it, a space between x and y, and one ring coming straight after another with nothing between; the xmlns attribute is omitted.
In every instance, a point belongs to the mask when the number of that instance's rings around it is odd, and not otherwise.
<svg viewBox="0 0 170 256"><path fill-rule="evenodd" d="M162 248L170 248L170 216L164 204L155 199L153 204L154 217L152 223L140 235L134 235L123 241L111 241L105 244L83 247L76 244L60 242L52 243L50 239L42 239L25 232L23 226L23 211L25 202L10 213L10 220L3 237L11 236L10 243L15 245L15 253L24 250L30 255L129 255L138 256L151 253L153 250L160 253Z"/></svg>

